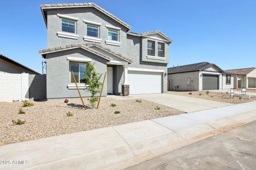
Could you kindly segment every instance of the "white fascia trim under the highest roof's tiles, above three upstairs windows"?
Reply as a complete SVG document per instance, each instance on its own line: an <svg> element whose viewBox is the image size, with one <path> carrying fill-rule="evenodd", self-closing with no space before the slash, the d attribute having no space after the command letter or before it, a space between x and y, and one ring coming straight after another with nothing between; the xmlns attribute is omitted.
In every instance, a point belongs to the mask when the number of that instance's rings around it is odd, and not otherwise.
<svg viewBox="0 0 256 170"><path fill-rule="evenodd" d="M101 8L96 7L96 6L93 6L93 5L84 5L84 6L61 6L61 7L42 7L41 10L42 10L42 14L44 15L44 12L43 12L44 9L47 10L47 9L52 9L52 8L79 8L79 7L94 7L94 8L96 8L97 10L101 11L102 13L104 13L105 15L109 16L109 18L112 18L112 19L114 19L115 21L117 21L118 23L122 24L124 27L126 27L126 28L128 28L128 29L131 29L130 25L127 25L126 23L125 23L125 24L122 23L122 21L116 19L115 16L111 16L111 15L108 14L108 12L105 12L105 11L102 10ZM46 19L44 19L44 22L47 23L47 22L46 22Z"/></svg>

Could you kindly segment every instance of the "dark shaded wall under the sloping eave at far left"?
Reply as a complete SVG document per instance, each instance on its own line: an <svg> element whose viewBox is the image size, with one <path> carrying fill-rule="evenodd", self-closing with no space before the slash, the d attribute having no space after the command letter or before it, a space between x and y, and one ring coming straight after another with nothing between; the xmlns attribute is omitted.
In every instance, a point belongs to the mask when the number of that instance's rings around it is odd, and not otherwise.
<svg viewBox="0 0 256 170"><path fill-rule="evenodd" d="M0 71L6 73L29 73L35 74L34 72L24 69L23 67L14 65L13 63L7 62L3 59L0 59Z"/></svg>

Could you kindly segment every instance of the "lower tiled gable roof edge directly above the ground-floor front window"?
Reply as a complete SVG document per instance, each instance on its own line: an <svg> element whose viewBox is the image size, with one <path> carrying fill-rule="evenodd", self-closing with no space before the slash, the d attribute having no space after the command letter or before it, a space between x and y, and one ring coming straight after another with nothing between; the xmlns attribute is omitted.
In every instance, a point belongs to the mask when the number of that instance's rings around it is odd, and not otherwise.
<svg viewBox="0 0 256 170"><path fill-rule="evenodd" d="M108 57L108 56L105 56L104 54L102 53L99 53L97 52L97 50L94 50L92 48L89 48L88 46L84 45L84 44L71 44L71 45L64 45L64 46L59 46L59 47L55 47L55 48L48 48L48 49L43 49L43 50L40 50L39 53L44 57L46 58L46 54L49 54L49 53L56 53L56 52L60 52L60 51L63 51L63 50L69 50L69 49L76 49L76 48L81 48L81 49L84 49L90 53L93 53L93 54L96 54L97 56L100 56L102 58L105 58L106 60L108 61L111 61L113 60L113 58L111 57Z"/></svg>

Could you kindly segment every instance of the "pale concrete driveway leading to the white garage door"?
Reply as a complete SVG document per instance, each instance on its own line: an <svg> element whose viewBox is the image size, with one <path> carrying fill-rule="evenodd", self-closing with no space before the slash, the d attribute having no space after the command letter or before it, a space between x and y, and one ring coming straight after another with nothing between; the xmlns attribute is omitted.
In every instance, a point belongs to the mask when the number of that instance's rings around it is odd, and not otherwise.
<svg viewBox="0 0 256 170"><path fill-rule="evenodd" d="M149 95L130 95L137 99L144 99L165 105L167 107L179 109L184 112L196 112L206 109L224 107L232 105L229 103L222 103L219 101L196 99L186 96L170 95L170 94L149 94Z"/></svg>

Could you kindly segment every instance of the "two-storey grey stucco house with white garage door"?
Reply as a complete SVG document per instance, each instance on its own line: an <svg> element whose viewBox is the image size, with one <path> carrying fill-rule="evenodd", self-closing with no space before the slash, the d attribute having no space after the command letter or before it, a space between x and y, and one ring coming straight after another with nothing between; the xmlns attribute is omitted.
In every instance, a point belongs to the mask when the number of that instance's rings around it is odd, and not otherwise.
<svg viewBox="0 0 256 170"><path fill-rule="evenodd" d="M132 33L131 27L94 3L41 5L48 49L39 53L47 64L47 99L78 97L71 71L86 91L85 63L107 72L107 94L167 92L170 38L160 31Z"/></svg>

